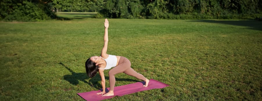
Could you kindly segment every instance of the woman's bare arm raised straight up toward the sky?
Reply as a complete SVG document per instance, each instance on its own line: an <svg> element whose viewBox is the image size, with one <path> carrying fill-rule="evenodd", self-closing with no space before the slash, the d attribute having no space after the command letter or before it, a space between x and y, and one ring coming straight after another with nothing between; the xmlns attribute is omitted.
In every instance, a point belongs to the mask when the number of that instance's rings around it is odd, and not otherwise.
<svg viewBox="0 0 262 101"><path fill-rule="evenodd" d="M107 44L108 44L108 27L109 27L109 23L108 23L107 19L105 19L104 26L105 26L104 46L103 46L102 51L101 51L101 57L106 59L108 57Z"/></svg>

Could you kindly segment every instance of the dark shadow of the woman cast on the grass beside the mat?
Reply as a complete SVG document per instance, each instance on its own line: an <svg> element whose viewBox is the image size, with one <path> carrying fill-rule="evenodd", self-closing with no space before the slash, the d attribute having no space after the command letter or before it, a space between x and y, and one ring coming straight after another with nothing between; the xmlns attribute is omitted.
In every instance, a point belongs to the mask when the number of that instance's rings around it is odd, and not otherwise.
<svg viewBox="0 0 262 101"><path fill-rule="evenodd" d="M64 80L68 81L72 85L78 85L79 81L82 81L84 83L87 83L91 87L95 87L97 89L101 88L101 84L99 83L101 81L101 78L98 74L96 74L93 78L91 78L89 81L87 81L87 79L89 79L89 77L87 76L86 73L76 73L73 70L71 70L70 68L68 68L67 66L65 66L62 62L60 62L59 64L64 66L64 68L66 68L67 70L69 70L71 72L71 75L64 75ZM105 76L105 79L109 79L109 77ZM140 81L137 81L137 80L126 79L126 78L116 78L116 81L140 82Z"/></svg>

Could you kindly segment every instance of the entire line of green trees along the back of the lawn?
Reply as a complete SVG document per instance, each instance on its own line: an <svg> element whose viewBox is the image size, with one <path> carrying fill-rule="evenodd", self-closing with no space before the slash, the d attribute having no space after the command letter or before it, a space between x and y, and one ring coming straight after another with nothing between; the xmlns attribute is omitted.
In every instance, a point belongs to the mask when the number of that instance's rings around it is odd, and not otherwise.
<svg viewBox="0 0 262 101"><path fill-rule="evenodd" d="M94 18L255 19L262 0L2 0L1 20L46 20L56 12L98 12Z"/></svg>

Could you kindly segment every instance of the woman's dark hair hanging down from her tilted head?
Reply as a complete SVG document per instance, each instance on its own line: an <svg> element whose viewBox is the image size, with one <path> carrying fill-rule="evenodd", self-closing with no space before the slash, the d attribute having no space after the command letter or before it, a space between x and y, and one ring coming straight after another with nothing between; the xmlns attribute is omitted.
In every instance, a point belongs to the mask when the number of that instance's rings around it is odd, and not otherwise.
<svg viewBox="0 0 262 101"><path fill-rule="evenodd" d="M96 63L91 61L90 58L87 59L87 61L85 62L85 70L87 72L87 75L92 78L96 75L96 73L98 72L99 66L96 66Z"/></svg>

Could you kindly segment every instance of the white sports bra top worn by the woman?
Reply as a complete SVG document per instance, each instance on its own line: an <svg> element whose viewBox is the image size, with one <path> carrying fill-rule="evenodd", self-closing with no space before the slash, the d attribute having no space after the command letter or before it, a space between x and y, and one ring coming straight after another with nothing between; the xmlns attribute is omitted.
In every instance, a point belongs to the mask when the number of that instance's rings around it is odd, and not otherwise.
<svg viewBox="0 0 262 101"><path fill-rule="evenodd" d="M101 58L104 59L103 57L101 57ZM100 68L100 69L108 70L108 69L116 66L116 63L117 63L116 55L109 55L107 57L107 59L104 59L104 60L106 62L106 66L105 66L105 68Z"/></svg>

